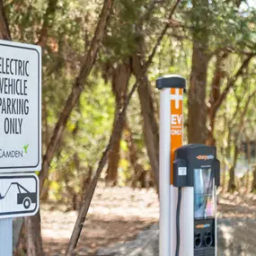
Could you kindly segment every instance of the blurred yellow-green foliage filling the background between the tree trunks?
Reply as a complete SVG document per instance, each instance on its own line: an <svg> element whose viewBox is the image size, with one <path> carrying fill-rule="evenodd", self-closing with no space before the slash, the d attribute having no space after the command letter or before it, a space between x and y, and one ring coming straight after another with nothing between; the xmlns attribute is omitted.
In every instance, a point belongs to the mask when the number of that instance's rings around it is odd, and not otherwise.
<svg viewBox="0 0 256 256"><path fill-rule="evenodd" d="M15 41L37 43L43 23L49 24L47 44L43 48L42 68L44 151L49 144L49 137L59 113L63 110L66 97L75 83L86 49L90 47L102 8L102 1L97 0L89 0L86 3L84 0L57 1L56 12L49 15L45 21L48 3L47 0L13 0L4 3ZM246 4L238 6L237 1L187 0L181 1L173 21L168 21L166 19L173 4L172 0L115 1L102 48L85 86L86 90L72 112L65 136L51 163L51 199L60 200L71 197L72 193L80 194L84 177L87 177L90 168L95 170L97 167L110 137L116 107L111 90L111 69L120 62L129 63L130 57L137 53L140 39L146 43L145 55L148 56L163 26L170 22L170 29L147 72L156 110L159 109L159 93L155 89L155 79L159 75L176 73L186 77L189 82L195 42L207 50L210 58L207 96L214 77L217 53L224 49L230 53L225 61L225 78L221 84L221 93L228 81L234 77L244 57L247 54L255 54L255 9L244 7ZM255 66L253 58L245 72L246 75L237 79L216 116L216 145L224 149L223 159L229 158L230 163L234 154L235 132L241 126L241 110L255 87ZM129 88L134 82L132 76ZM241 110L234 117L239 102ZM186 125L187 99L184 103ZM244 125L251 132L256 120L254 105L255 100L246 112ZM155 116L158 119L158 112ZM128 124L137 147L138 162L146 171L150 170L137 95L128 106ZM243 141L242 135L240 145ZM129 149L124 137L121 139L120 148L119 184L126 185L134 172L129 163Z"/></svg>

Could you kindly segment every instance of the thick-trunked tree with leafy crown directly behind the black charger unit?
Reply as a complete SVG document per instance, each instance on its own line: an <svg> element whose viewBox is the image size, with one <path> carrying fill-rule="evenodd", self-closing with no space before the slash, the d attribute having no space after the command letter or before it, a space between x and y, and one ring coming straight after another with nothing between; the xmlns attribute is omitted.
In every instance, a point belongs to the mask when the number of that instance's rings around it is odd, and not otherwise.
<svg viewBox="0 0 256 256"><path fill-rule="evenodd" d="M216 113L253 57L253 48L248 41L254 41L251 33L254 13L244 18L237 4L241 1L192 1L188 15L193 40L188 100L190 143L215 145ZM241 52L241 47L246 50ZM237 73L227 77L225 63L231 52L239 54L243 61ZM210 70L212 61L215 63L214 73ZM208 99L207 91L210 92Z"/></svg>

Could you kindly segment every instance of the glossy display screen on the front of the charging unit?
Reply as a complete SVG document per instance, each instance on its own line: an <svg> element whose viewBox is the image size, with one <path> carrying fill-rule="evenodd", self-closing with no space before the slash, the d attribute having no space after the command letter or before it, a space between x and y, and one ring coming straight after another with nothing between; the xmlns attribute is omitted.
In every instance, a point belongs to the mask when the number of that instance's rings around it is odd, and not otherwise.
<svg viewBox="0 0 256 256"><path fill-rule="evenodd" d="M210 168L194 169L194 208L196 219L215 217L215 179Z"/></svg>

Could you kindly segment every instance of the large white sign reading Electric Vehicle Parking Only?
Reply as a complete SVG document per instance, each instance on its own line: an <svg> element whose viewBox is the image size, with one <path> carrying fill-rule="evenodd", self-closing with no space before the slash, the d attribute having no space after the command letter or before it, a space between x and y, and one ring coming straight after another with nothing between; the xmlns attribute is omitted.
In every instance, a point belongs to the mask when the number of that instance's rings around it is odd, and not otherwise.
<svg viewBox="0 0 256 256"><path fill-rule="evenodd" d="M41 49L0 40L0 172L40 171L40 127Z"/></svg>

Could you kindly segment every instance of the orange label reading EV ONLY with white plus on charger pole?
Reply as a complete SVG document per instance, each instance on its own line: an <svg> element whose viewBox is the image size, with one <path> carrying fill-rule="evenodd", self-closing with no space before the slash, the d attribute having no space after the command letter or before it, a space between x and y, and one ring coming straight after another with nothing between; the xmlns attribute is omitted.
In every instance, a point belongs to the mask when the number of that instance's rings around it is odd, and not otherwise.
<svg viewBox="0 0 256 256"><path fill-rule="evenodd" d="M171 184L175 150L183 143L183 89L171 88Z"/></svg>

